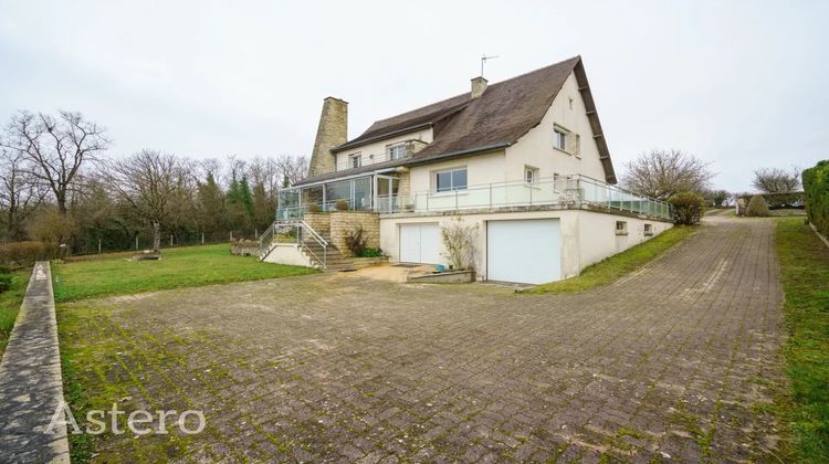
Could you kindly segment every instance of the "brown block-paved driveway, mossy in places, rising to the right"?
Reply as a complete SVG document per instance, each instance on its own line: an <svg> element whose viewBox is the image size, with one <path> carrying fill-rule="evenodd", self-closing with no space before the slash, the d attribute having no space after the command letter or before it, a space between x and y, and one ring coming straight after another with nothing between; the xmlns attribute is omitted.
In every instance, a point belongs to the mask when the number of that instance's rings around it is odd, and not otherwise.
<svg viewBox="0 0 829 464"><path fill-rule="evenodd" d="M773 239L772 221L711 218L564 296L315 275L109 298L90 337L122 350L107 376L133 376L126 408L206 411L196 458L765 461Z"/></svg>

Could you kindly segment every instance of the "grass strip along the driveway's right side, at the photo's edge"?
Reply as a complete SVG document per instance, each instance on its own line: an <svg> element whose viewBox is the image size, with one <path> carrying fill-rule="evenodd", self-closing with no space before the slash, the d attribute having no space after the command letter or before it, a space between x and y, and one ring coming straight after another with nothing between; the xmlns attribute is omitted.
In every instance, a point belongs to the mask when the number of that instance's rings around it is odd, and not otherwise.
<svg viewBox="0 0 829 464"><path fill-rule="evenodd" d="M802 218L779 219L776 244L791 383L776 402L791 454L786 461L829 462L829 247Z"/></svg>

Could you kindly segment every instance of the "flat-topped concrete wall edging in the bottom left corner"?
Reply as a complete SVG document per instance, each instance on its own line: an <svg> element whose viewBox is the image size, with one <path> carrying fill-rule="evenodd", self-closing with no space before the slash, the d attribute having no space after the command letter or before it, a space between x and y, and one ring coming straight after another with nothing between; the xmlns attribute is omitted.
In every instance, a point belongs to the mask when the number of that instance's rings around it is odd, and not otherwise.
<svg viewBox="0 0 829 464"><path fill-rule="evenodd" d="M48 261L38 262L0 363L0 462L69 463L57 321ZM63 410L60 410L63 411Z"/></svg>

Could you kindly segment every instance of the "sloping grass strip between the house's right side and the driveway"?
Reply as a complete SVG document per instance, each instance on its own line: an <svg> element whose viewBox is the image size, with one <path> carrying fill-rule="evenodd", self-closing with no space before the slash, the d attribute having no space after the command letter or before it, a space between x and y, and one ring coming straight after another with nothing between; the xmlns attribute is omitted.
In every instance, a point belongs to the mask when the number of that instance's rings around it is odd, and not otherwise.
<svg viewBox="0 0 829 464"><path fill-rule="evenodd" d="M648 264L654 257L682 242L697 230L699 226L674 226L644 243L640 243L607 260L585 267L577 277L537 285L526 289L525 293L581 292L598 285L609 284Z"/></svg>

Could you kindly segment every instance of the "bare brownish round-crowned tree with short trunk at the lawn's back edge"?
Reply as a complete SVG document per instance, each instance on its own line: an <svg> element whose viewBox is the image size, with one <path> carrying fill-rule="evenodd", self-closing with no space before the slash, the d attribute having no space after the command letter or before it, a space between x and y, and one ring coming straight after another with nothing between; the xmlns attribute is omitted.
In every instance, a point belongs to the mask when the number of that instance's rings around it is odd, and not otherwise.
<svg viewBox="0 0 829 464"><path fill-rule="evenodd" d="M185 204L188 169L174 155L143 150L103 164L109 189L153 225L153 250L161 247L161 224Z"/></svg>

